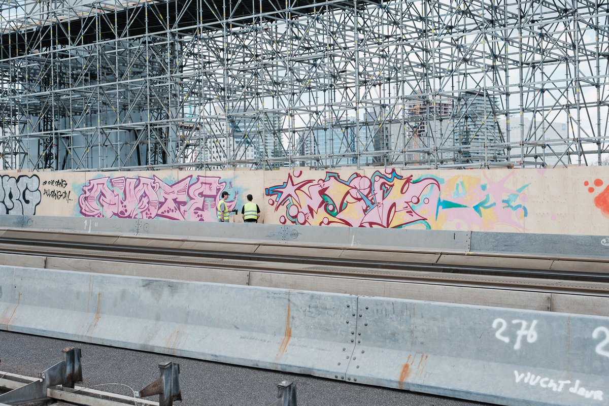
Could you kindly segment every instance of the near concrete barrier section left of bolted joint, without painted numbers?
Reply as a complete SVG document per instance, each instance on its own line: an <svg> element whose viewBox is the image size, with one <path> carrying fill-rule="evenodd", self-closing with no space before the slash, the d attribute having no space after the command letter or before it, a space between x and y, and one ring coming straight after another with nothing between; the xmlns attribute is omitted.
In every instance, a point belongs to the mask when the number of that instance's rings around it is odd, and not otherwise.
<svg viewBox="0 0 609 406"><path fill-rule="evenodd" d="M0 329L321 377L344 376L356 304L348 295L0 267Z"/></svg>

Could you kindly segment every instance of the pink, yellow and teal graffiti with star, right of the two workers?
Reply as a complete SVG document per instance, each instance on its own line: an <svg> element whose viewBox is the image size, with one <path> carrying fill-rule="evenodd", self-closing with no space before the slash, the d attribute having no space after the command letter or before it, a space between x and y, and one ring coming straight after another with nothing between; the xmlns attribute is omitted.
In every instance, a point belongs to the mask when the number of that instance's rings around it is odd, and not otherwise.
<svg viewBox="0 0 609 406"><path fill-rule="evenodd" d="M507 175L499 181L459 176L444 180L428 176L414 179L395 169L376 171L371 177L352 173L343 179L336 172L308 179L296 170L282 184L265 189L268 203L281 210L280 222L298 225L346 225L400 228L421 224L441 229L493 229L497 223L524 229L528 184L512 189Z"/></svg>

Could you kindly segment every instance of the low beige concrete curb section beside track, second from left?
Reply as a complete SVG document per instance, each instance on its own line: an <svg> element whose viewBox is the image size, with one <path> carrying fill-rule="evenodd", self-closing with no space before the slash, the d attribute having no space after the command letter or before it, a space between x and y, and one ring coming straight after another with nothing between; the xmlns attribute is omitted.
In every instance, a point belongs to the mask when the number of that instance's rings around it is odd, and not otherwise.
<svg viewBox="0 0 609 406"><path fill-rule="evenodd" d="M247 285L248 272L213 268L134 264L130 262L92 261L89 259L49 258L47 268L110 273L143 278L178 279L183 281L213 282Z"/></svg>

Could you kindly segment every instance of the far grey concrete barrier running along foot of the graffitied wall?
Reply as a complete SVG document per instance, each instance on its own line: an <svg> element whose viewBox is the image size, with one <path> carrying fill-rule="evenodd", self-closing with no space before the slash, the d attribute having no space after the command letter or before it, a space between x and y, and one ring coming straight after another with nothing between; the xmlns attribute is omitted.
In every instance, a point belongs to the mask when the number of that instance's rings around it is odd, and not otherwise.
<svg viewBox="0 0 609 406"><path fill-rule="evenodd" d="M546 256L558 258L609 258L609 237L531 233L490 233L479 231L443 231L421 229L376 229L353 227L320 227L294 225L247 225L244 223L186 222L146 219L96 219L90 217L54 217L41 215L2 215L0 229L72 231L105 233L112 236L148 238L188 236L194 240L233 242L243 249L242 242L259 242L260 250L272 251L276 245L319 246L339 250L395 250L404 252L478 253L510 256ZM128 242L119 238L118 242ZM148 240L145 245L154 243ZM166 242L163 242L166 246ZM270 247L264 247L269 244ZM192 242L193 247L196 242ZM274 247L273 247L274 246ZM188 248L180 244L182 248ZM225 247L226 248L226 247ZM250 247L256 248L255 245ZM357 255L357 253L352 253ZM468 262L468 259L462 261ZM426 261L425 261L426 262ZM552 265L552 266L561 266ZM566 264L563 267L577 264ZM583 265L587 266L587 265ZM536 266L533 265L533 268ZM541 268L547 268L541 265Z"/></svg>

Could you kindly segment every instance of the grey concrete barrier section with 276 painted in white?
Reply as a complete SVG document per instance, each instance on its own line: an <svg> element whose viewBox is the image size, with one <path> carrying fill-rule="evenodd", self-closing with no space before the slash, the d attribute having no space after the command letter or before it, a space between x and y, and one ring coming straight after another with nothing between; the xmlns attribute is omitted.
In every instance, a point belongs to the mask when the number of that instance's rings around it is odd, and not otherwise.
<svg viewBox="0 0 609 406"><path fill-rule="evenodd" d="M605 405L609 318L360 296L347 377L501 405Z"/></svg>

